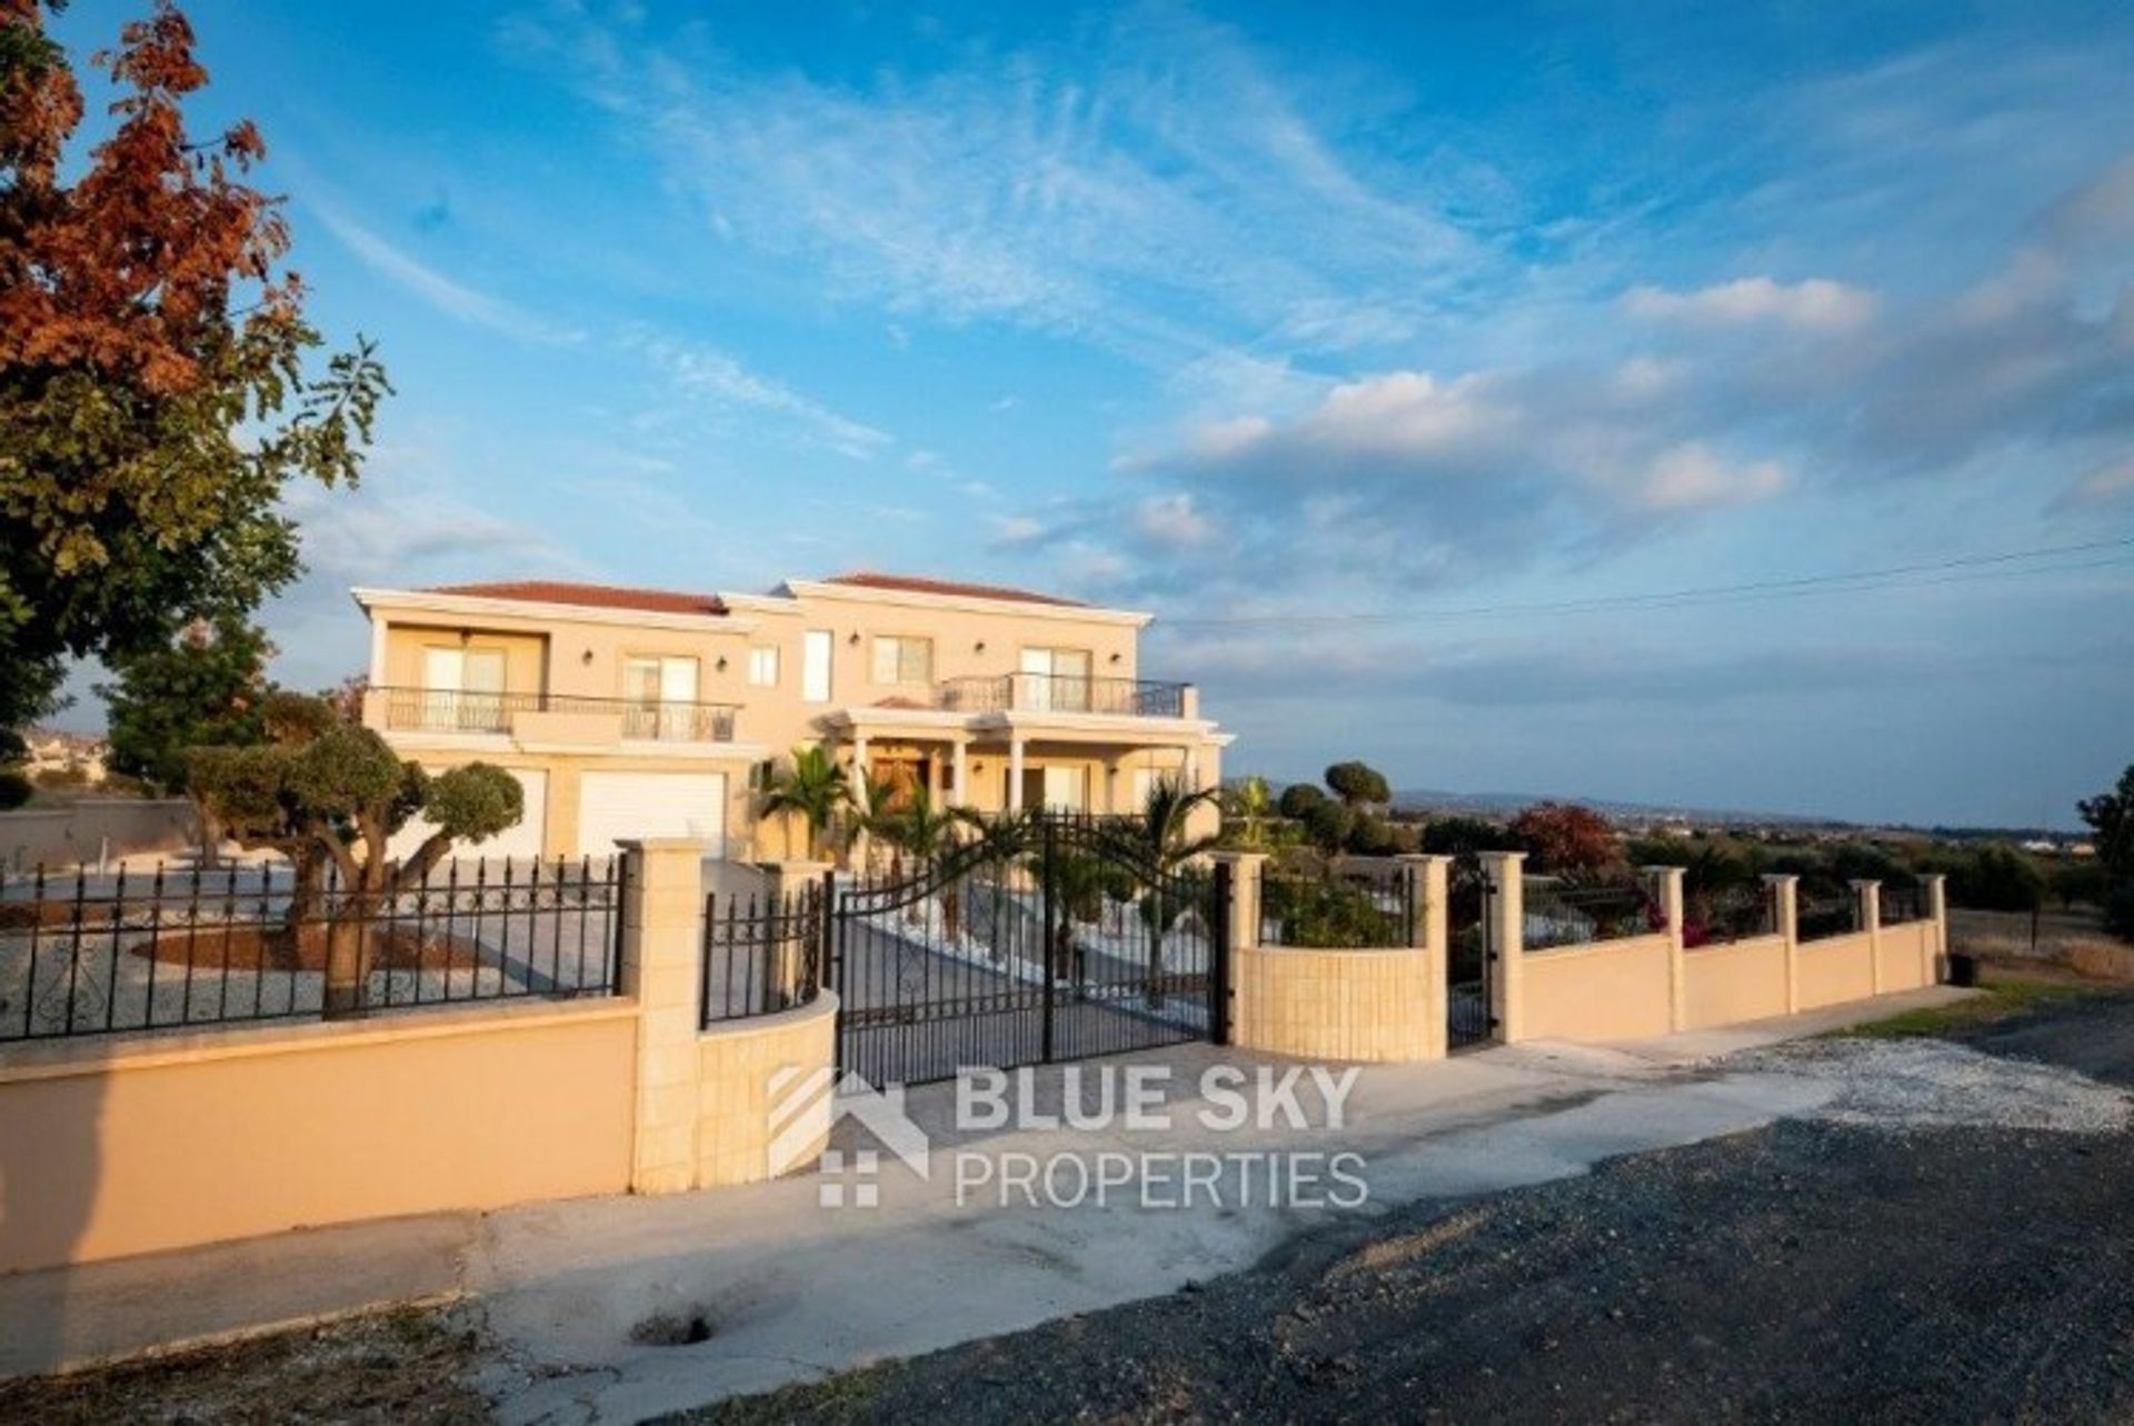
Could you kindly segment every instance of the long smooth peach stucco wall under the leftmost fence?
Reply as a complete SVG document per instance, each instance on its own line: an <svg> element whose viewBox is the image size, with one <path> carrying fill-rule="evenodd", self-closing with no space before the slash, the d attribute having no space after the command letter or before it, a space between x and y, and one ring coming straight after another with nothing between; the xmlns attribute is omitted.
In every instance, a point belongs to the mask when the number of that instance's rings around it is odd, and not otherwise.
<svg viewBox="0 0 2134 1426"><path fill-rule="evenodd" d="M636 1005L512 1005L0 1061L0 1270L615 1193Z"/></svg>

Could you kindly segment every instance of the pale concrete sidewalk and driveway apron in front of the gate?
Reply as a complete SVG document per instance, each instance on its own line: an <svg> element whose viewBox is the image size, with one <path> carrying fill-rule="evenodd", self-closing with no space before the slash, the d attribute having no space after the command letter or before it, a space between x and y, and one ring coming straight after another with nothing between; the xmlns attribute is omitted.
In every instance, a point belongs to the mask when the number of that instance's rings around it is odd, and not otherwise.
<svg viewBox="0 0 2134 1426"><path fill-rule="evenodd" d="M1711 1063L1968 993L1933 988L1726 1031L1630 1046L1530 1044L1434 1065L1359 1072L1340 1131L1195 1119L1199 1072L1289 1067L1210 1046L1131 1057L1172 1067L1163 1131L952 1134L952 1087L913 1091L930 1181L879 1174L879 1206L824 1208L824 1176L676 1198L602 1198L284 1234L73 1272L0 1277L0 1375L356 1311L378 1302L480 1298L499 1358L484 1390L510 1422L632 1422L738 1392L909 1356L1174 1292L1253 1264L1336 1208L1248 1204L958 1204L967 1172L1014 1155L1347 1151L1379 1213L1583 1172L1598 1159L1688 1144L1814 1110L1833 1087ZM1086 1061L1090 1065L1118 1061ZM1033 1080L1056 1108L1063 1067ZM1317 1097L1304 1093L1308 1108ZM858 1148L849 1127L841 1144ZM849 1181L849 1176L847 1176ZM1137 1185L1135 1185L1137 1187ZM696 1343L659 1345L702 1336Z"/></svg>

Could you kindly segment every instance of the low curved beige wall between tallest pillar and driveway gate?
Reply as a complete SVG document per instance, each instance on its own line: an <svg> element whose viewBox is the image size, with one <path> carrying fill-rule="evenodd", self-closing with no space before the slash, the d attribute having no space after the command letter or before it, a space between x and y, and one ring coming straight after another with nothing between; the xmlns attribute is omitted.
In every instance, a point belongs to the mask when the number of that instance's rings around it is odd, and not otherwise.
<svg viewBox="0 0 2134 1426"><path fill-rule="evenodd" d="M781 1070L822 1074L837 1063L837 995L764 1016L715 1025L698 1037L696 1185L770 1178L770 1078ZM813 1163L830 1138L830 1097L800 1112L802 1157Z"/></svg>

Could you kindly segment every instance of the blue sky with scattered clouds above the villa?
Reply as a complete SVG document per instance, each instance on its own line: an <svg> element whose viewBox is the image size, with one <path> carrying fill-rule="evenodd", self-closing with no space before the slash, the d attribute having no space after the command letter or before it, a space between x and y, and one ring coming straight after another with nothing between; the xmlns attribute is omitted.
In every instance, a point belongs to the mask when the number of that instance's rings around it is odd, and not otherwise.
<svg viewBox="0 0 2134 1426"><path fill-rule="evenodd" d="M888 568L1157 611L1231 771L2066 824L2134 11L1394 9L190 4L399 386L280 672L350 583Z"/></svg>

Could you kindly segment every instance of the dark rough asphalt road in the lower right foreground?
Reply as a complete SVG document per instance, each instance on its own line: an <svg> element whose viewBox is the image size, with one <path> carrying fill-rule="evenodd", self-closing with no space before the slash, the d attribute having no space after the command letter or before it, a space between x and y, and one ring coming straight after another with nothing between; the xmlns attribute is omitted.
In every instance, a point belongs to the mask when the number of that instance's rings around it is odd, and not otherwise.
<svg viewBox="0 0 2134 1426"><path fill-rule="evenodd" d="M2134 1084L2134 999L1961 1035ZM1782 1121L689 1420L2134 1420L2134 1136Z"/></svg>

